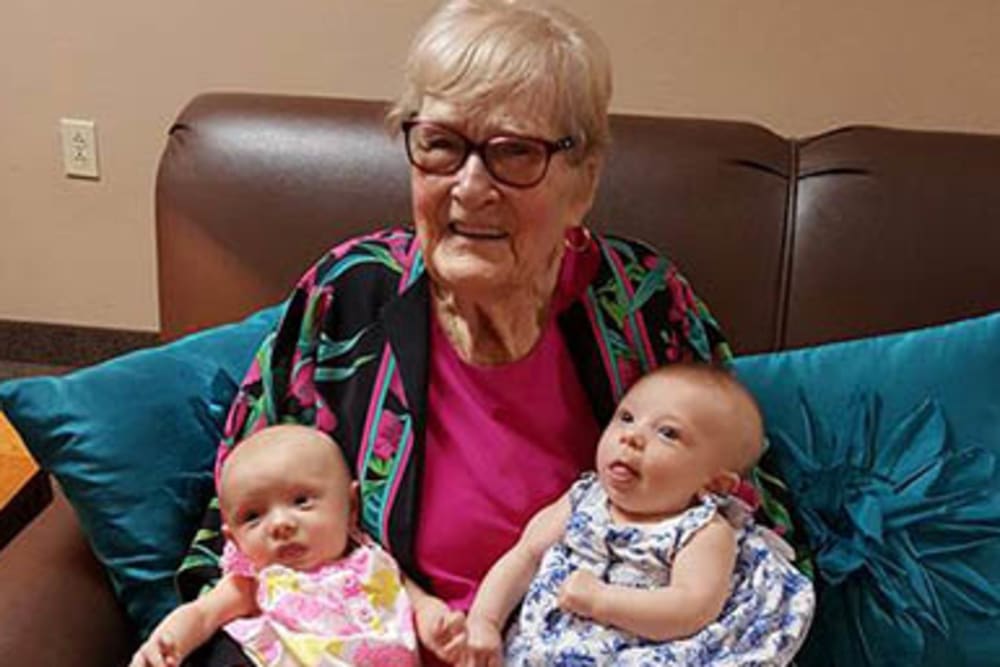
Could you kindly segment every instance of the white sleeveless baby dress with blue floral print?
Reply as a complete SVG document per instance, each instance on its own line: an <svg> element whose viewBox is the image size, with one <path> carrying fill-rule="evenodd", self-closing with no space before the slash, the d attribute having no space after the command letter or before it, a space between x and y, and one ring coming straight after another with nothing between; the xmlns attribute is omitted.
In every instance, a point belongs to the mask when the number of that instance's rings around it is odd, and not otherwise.
<svg viewBox="0 0 1000 667"><path fill-rule="evenodd" d="M507 633L505 664L745 667L792 660L812 619L812 584L779 552L780 538L757 527L738 501L707 496L678 516L636 526L613 522L594 473L578 480L569 498L565 535L542 558ZM738 555L722 613L698 633L658 643L559 609L559 587L577 568L620 586L668 585L674 556L716 512L736 527Z"/></svg>

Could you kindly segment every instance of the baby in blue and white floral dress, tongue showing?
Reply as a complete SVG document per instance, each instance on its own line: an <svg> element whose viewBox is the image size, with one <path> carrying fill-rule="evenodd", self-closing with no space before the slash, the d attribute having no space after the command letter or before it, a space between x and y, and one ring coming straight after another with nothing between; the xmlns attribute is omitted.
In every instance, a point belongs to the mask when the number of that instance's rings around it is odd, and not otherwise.
<svg viewBox="0 0 1000 667"><path fill-rule="evenodd" d="M810 581L730 497L761 417L726 371L672 365L632 387L585 474L493 566L463 665L783 665ZM507 633L501 629L519 601Z"/></svg>

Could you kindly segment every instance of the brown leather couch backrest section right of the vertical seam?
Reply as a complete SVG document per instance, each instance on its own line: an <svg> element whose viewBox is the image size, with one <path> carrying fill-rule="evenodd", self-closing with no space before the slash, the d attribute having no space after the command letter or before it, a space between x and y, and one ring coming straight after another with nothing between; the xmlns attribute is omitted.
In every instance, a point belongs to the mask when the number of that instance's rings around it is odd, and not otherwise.
<svg viewBox="0 0 1000 667"><path fill-rule="evenodd" d="M1000 137L853 127L797 163L786 346L1000 308Z"/></svg>

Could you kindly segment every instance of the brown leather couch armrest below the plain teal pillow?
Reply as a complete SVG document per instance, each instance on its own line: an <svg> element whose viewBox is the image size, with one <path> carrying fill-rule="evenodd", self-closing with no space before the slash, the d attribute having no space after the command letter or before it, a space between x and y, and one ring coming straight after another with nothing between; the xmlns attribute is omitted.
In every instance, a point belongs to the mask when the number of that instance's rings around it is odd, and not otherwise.
<svg viewBox="0 0 1000 667"><path fill-rule="evenodd" d="M0 551L0 664L127 663L131 632L104 570L58 490Z"/></svg>

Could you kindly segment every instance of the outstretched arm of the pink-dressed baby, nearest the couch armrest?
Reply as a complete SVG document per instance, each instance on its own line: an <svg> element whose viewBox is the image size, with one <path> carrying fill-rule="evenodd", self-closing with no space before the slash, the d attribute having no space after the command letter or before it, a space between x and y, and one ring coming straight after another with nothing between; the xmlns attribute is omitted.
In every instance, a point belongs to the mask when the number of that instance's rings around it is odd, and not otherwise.
<svg viewBox="0 0 1000 667"><path fill-rule="evenodd" d="M255 586L246 577L223 577L208 593L167 614L129 667L177 667L229 621L259 613Z"/></svg>

